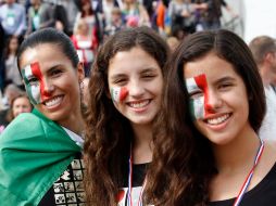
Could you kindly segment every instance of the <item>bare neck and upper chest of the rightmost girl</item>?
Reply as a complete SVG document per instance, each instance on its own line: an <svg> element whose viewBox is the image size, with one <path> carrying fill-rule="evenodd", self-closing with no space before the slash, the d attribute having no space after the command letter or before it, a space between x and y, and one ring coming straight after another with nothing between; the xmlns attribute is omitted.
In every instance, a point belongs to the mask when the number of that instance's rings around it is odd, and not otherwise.
<svg viewBox="0 0 276 206"><path fill-rule="evenodd" d="M213 146L218 173L211 181L211 201L228 199L238 195L253 167L260 144L258 134L248 127L231 142ZM253 176L249 190L262 180L256 177Z"/></svg>

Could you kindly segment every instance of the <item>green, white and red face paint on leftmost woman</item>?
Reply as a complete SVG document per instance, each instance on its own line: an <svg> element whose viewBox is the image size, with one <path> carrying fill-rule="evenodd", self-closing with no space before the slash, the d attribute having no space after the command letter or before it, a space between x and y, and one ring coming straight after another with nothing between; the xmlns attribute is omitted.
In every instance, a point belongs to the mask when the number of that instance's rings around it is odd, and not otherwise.
<svg viewBox="0 0 276 206"><path fill-rule="evenodd" d="M27 65L22 69L23 80L27 94L33 104L40 104L49 93L45 90L43 76L38 62Z"/></svg>

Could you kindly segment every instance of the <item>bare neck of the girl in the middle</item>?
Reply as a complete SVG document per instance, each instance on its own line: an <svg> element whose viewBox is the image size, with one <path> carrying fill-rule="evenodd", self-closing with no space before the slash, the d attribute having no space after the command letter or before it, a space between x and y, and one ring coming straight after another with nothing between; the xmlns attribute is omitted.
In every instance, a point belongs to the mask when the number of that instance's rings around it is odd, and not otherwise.
<svg viewBox="0 0 276 206"><path fill-rule="evenodd" d="M150 163L152 160L152 126L133 125L134 143L133 160L134 164Z"/></svg>

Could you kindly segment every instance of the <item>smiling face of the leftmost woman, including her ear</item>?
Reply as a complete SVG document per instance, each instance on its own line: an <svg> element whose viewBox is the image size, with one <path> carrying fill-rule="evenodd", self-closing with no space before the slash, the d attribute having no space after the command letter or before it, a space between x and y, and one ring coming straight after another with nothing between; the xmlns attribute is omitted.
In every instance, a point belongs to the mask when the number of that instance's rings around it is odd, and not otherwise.
<svg viewBox="0 0 276 206"><path fill-rule="evenodd" d="M28 96L38 111L61 125L79 116L80 64L74 68L58 46L41 43L22 53L20 66Z"/></svg>

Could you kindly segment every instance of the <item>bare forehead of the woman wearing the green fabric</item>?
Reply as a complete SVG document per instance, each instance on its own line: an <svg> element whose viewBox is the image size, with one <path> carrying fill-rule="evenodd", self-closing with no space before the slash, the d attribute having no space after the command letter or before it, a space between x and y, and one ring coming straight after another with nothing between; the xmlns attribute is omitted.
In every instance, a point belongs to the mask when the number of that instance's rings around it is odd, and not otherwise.
<svg viewBox="0 0 276 206"><path fill-rule="evenodd" d="M33 48L27 48L21 55L21 69L33 63L38 63L40 69L43 70L57 64L66 65L71 63L71 61L59 46L53 43L40 43Z"/></svg>

